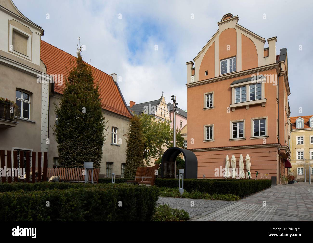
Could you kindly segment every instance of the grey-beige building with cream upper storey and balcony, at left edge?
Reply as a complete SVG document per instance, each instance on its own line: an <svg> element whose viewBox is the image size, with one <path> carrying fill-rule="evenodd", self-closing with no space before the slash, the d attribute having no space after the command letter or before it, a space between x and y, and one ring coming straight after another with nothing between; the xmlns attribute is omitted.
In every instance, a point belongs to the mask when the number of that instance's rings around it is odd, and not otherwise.
<svg viewBox="0 0 313 243"><path fill-rule="evenodd" d="M48 151L51 84L38 82L46 73L40 59L43 35L44 30L25 17L11 0L0 0L0 97L16 102L21 110L17 121L7 119L1 112L1 150Z"/></svg>

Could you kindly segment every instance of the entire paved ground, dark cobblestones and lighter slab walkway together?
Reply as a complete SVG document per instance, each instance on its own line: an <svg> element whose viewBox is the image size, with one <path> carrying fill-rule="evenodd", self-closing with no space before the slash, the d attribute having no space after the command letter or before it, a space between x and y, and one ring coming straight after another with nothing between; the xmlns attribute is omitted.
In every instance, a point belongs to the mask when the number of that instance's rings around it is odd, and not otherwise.
<svg viewBox="0 0 313 243"><path fill-rule="evenodd" d="M272 186L237 202L183 198L159 202L184 209L191 221L313 221L313 184L308 182Z"/></svg>

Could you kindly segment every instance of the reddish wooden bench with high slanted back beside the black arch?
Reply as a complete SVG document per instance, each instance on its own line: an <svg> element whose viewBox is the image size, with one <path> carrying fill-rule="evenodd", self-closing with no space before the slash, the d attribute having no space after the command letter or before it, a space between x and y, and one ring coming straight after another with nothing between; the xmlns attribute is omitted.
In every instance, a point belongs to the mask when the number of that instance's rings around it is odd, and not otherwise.
<svg viewBox="0 0 313 243"><path fill-rule="evenodd" d="M159 168L159 165L156 164L155 166L150 167L138 167L136 171L135 181L126 181L132 184L139 184L139 185L147 185L147 186L154 186L156 175L155 170Z"/></svg>

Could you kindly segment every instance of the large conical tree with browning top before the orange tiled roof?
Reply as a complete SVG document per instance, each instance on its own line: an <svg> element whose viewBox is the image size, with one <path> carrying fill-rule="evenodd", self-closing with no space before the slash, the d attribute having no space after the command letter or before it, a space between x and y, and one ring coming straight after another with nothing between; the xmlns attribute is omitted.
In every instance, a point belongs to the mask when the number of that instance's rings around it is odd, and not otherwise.
<svg viewBox="0 0 313 243"><path fill-rule="evenodd" d="M99 86L94 84L91 67L83 61L81 50L77 48L76 67L73 65L67 77L60 106L54 103L58 119L53 129L61 166L83 168L85 161L91 161L99 168L108 127Z"/></svg>

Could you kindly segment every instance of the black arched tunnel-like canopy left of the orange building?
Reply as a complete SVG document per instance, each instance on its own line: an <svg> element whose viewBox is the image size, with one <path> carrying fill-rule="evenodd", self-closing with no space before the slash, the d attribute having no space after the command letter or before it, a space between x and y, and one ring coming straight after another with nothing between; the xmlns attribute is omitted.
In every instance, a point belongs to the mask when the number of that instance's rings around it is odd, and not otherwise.
<svg viewBox="0 0 313 243"><path fill-rule="evenodd" d="M168 175L174 175L176 158L180 153L183 153L185 157L184 178L198 178L197 156L190 150L178 148L178 147L171 147L164 152L162 156L162 169L161 169L162 178L165 178L165 177L175 178L175 176L168 176ZM177 173L178 171L176 172L176 174Z"/></svg>

